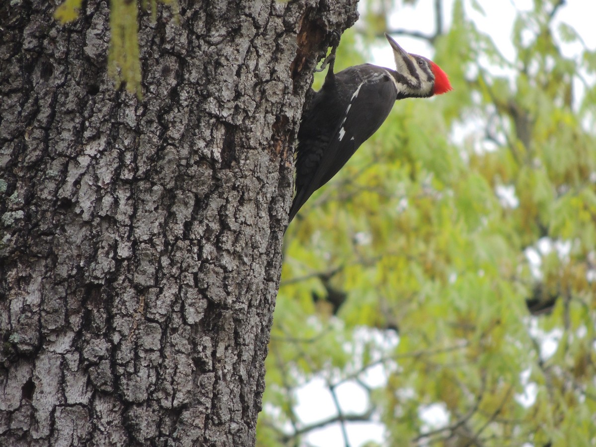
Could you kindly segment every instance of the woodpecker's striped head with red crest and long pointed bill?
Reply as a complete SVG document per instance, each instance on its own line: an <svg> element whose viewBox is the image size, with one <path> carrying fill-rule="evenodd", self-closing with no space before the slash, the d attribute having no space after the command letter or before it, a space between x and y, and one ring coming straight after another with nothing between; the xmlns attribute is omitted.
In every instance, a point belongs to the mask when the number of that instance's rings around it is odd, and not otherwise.
<svg viewBox="0 0 596 447"><path fill-rule="evenodd" d="M402 97L431 97L451 90L449 78L433 61L417 54L410 54L385 33L393 48L395 67L403 89ZM398 93L398 96L399 94Z"/></svg>

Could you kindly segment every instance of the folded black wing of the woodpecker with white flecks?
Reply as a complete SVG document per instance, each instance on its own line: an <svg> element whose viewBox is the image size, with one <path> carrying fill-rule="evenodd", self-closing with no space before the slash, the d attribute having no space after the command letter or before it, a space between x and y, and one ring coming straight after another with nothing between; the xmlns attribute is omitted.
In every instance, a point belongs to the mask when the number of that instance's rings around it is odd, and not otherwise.
<svg viewBox="0 0 596 447"><path fill-rule="evenodd" d="M342 73L338 73L338 82ZM305 141L302 144L318 144L315 159L308 160L313 166L310 178L297 185L296 197L290 209L290 221L312 193L327 183L383 124L395 103L395 83L385 70L374 73L361 81L351 97L342 98L346 113L327 141ZM321 119L325 119L321 116ZM300 153L299 153L300 157Z"/></svg>

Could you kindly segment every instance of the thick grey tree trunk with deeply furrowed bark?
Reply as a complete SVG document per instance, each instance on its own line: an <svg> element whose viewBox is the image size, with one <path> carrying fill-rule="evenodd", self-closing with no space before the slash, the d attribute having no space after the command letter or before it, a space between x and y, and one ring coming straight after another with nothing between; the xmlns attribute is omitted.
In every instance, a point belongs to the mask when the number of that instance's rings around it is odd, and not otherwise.
<svg viewBox="0 0 596 447"><path fill-rule="evenodd" d="M254 443L312 69L355 0L0 7L0 445Z"/></svg>

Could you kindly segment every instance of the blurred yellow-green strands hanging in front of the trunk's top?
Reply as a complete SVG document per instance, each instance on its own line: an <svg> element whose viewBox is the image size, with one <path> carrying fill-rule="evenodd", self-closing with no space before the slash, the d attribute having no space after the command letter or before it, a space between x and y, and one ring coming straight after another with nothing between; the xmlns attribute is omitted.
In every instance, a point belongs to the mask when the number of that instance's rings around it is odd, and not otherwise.
<svg viewBox="0 0 596 447"><path fill-rule="evenodd" d="M178 1L160 0L172 8L175 20L178 20ZM82 0L64 0L54 11L54 17L61 23L77 20ZM142 98L141 60L139 55L138 19L139 5L132 0L110 0L110 51L108 54L108 73L116 82L116 88L122 83L131 93ZM142 0L142 10L151 11L151 20L157 17L157 0Z"/></svg>

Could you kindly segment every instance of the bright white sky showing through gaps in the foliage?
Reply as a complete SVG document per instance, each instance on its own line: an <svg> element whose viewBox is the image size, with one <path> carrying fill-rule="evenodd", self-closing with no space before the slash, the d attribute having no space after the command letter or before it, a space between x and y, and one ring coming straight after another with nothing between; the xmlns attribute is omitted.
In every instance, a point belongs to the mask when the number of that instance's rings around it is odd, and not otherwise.
<svg viewBox="0 0 596 447"><path fill-rule="evenodd" d="M415 7L401 6L395 14L390 17L390 23L395 28L417 30L423 33L433 33L434 0L420 0ZM532 0L479 0L486 15L473 11L470 7L470 0L465 0L465 10L469 17L476 21L479 29L488 33L502 54L508 59L515 57L514 47L511 44L511 27L513 26L516 10L527 11L532 8ZM451 22L452 0L445 2L443 14L446 28ZM589 49L596 48L596 1L594 0L567 0L567 4L560 7L555 16L555 29L558 23L570 24L582 37ZM395 36L399 44L408 52L425 55L432 58L433 50L426 41L409 38L406 36ZM581 45L561 44L561 51L567 57L576 57L581 51ZM393 54L389 45L379 46L373 49L374 64L386 67L393 67ZM544 349L552 350L552 340L544 340ZM383 383L384 371L381 367L371 368L368 371L366 381L379 385ZM530 384L531 385L531 384ZM344 413L363 412L367 408L367 393L355 382L342 384L336 389L340 406ZM520 401L531 401L534 390L531 386L526 390L526 395L520 395ZM297 392L298 405L296 413L305 424L315 423L337 414L333 399L322 378L316 378L301 387ZM421 417L428 421L430 426L437 423L446 424L445 411L440 405L429 405L421 411ZM383 444L384 428L378 422L373 423L349 423L347 434L350 447L361 446L365 442L374 441ZM315 430L305 437L306 445L316 447L345 447L342 432L339 424Z"/></svg>

